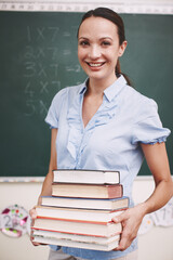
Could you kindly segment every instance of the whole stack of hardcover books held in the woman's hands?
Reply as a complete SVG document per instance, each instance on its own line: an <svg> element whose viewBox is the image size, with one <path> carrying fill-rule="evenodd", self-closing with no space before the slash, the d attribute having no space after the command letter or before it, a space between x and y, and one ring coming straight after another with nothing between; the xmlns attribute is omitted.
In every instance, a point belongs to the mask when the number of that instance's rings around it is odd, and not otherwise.
<svg viewBox="0 0 173 260"><path fill-rule="evenodd" d="M118 171L54 170L52 196L36 208L34 242L93 250L118 246L121 223L112 218L129 207Z"/></svg>

